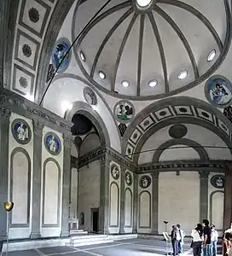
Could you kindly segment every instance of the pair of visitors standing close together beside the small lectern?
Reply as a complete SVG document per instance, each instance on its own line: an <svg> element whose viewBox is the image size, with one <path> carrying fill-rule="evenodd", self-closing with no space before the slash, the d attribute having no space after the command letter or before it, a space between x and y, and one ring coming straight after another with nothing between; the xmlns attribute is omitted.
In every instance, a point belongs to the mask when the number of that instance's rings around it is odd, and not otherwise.
<svg viewBox="0 0 232 256"><path fill-rule="evenodd" d="M183 238L185 236L184 231L181 229L181 225L173 225L171 230L171 243L173 247L173 255L179 255L183 253Z"/></svg>

